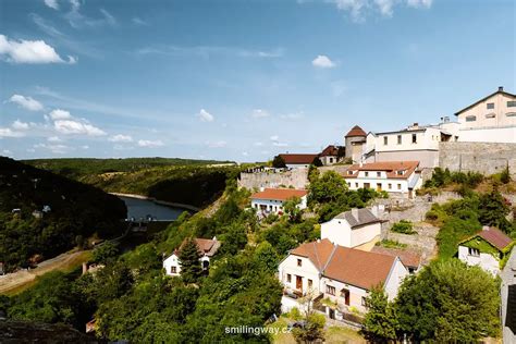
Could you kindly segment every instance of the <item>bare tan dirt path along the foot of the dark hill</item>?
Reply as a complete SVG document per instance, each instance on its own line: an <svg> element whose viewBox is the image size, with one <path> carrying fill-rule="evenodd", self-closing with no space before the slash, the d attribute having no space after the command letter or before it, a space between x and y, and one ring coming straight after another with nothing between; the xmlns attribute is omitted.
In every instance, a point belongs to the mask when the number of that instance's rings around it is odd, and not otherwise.
<svg viewBox="0 0 516 344"><path fill-rule="evenodd" d="M37 268L0 277L0 294L11 294L30 285L36 277L53 270L66 271L88 260L89 250L70 251L42 261Z"/></svg>

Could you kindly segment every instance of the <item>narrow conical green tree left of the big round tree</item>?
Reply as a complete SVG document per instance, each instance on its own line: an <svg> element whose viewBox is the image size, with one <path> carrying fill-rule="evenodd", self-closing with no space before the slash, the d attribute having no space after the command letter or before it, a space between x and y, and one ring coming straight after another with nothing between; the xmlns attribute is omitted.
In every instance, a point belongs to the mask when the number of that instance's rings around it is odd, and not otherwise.
<svg viewBox="0 0 516 344"><path fill-rule="evenodd" d="M364 333L372 343L396 340L394 307L381 286L371 290L366 298L368 312L364 319Z"/></svg>

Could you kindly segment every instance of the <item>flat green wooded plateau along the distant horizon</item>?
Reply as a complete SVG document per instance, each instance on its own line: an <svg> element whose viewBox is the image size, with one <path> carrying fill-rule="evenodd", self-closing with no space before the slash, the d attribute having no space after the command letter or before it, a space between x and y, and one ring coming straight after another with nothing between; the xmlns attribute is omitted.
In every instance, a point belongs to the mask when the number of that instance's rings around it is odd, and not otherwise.
<svg viewBox="0 0 516 344"><path fill-rule="evenodd" d="M63 158L23 160L27 164L48 170L61 175L77 179L87 174L110 172L134 172L159 167L207 165L232 163L232 161L194 160L179 158L126 158L126 159L94 159Z"/></svg>

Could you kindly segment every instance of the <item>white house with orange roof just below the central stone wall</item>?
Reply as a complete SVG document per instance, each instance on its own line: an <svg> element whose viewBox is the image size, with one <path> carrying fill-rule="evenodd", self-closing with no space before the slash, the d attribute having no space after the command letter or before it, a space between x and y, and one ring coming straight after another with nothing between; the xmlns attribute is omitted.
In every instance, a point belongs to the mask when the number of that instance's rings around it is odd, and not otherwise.
<svg viewBox="0 0 516 344"><path fill-rule="evenodd" d="M299 209L306 208L308 191L294 188L265 188L259 193L250 196L250 206L257 210L259 216L268 216L270 213L283 213L283 205L293 197L298 197L300 204Z"/></svg>

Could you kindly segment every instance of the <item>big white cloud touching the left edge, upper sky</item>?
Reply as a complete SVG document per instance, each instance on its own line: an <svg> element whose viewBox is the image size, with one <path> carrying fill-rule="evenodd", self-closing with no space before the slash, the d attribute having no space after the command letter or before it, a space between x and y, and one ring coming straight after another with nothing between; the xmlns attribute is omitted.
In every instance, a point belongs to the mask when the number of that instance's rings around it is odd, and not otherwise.
<svg viewBox="0 0 516 344"><path fill-rule="evenodd" d="M63 60L56 50L44 40L10 40L0 35L0 56L5 56L12 63L75 63L76 59L69 57Z"/></svg>

